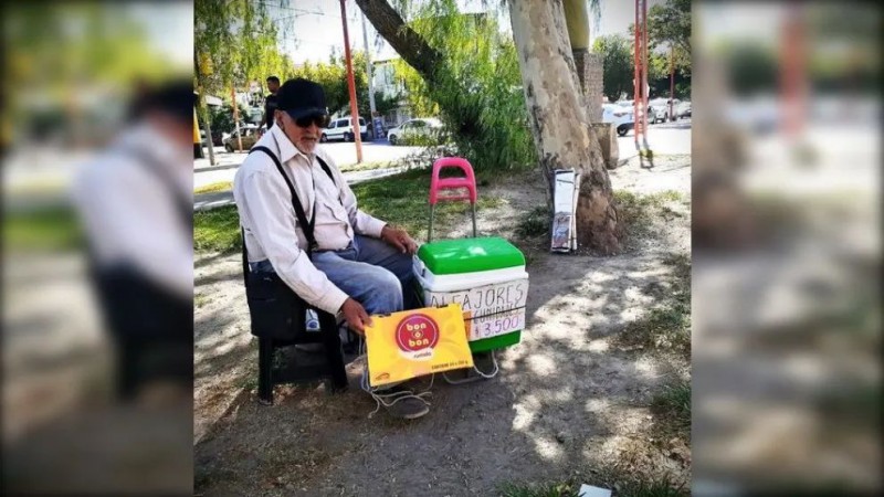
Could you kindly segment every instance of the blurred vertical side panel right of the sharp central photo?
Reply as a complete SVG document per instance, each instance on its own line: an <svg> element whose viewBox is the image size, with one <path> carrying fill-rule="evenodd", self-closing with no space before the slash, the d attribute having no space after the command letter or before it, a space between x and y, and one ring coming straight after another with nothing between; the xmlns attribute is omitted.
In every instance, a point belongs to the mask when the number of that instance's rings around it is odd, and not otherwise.
<svg viewBox="0 0 884 497"><path fill-rule="evenodd" d="M693 495L878 495L881 9L693 3Z"/></svg>

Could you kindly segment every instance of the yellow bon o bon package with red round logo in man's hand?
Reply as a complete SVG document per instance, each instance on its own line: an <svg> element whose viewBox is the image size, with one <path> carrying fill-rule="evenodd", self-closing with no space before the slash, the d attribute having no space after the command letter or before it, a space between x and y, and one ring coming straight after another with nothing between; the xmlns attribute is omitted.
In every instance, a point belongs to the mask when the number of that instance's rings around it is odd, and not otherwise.
<svg viewBox="0 0 884 497"><path fill-rule="evenodd" d="M366 328L371 387L473 367L460 304L371 316L371 320Z"/></svg>

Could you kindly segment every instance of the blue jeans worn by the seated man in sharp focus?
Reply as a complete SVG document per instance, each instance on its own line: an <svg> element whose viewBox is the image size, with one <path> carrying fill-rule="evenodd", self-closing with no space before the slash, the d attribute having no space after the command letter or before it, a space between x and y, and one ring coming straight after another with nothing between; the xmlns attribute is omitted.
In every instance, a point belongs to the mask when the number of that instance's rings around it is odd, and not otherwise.
<svg viewBox="0 0 884 497"><path fill-rule="evenodd" d="M421 306L414 292L412 256L382 240L356 235L341 251L313 253L313 265L368 314L389 314ZM269 261L251 263L252 271L273 271Z"/></svg>

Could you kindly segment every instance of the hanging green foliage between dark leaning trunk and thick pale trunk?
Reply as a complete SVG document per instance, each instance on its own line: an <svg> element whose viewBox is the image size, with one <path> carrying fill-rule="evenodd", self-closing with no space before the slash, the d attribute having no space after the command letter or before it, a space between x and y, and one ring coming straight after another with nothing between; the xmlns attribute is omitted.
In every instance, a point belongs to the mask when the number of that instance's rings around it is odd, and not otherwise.
<svg viewBox="0 0 884 497"><path fill-rule="evenodd" d="M406 61L394 63L412 115L439 115L459 154L477 170L536 163L513 40L494 15L463 14L453 0L398 2L406 22L445 57L430 85Z"/></svg>

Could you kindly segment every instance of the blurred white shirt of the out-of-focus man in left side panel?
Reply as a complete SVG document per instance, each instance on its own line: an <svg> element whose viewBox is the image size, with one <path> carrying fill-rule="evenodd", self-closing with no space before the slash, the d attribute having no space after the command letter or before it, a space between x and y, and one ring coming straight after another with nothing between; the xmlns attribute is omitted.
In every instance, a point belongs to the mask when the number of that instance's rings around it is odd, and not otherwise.
<svg viewBox="0 0 884 497"><path fill-rule="evenodd" d="M138 149L154 160L145 162L117 147ZM192 205L192 149L141 124L82 166L71 193L97 264L131 264L181 298L193 298L191 226L185 225L176 203L178 195L191 199Z"/></svg>

